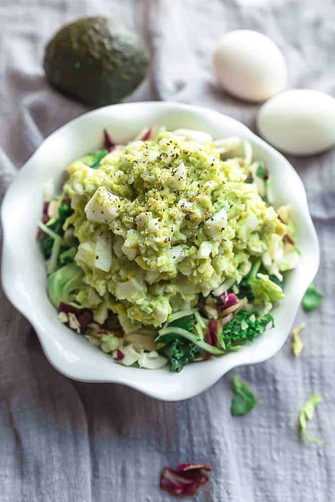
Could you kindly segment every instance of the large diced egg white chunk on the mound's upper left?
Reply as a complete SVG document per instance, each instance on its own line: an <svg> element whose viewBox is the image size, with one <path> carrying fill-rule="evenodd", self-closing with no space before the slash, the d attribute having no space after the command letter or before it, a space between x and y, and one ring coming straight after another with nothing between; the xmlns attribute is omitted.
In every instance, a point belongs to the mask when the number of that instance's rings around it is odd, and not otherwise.
<svg viewBox="0 0 335 502"><path fill-rule="evenodd" d="M99 187L85 206L86 217L94 223L110 223L119 214L119 203L120 197Z"/></svg>

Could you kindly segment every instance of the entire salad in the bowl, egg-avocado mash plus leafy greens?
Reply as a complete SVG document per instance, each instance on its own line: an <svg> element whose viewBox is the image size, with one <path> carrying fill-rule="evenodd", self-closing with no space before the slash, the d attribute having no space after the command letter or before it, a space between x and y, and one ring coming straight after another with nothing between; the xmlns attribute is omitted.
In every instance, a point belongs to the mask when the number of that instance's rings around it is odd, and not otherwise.
<svg viewBox="0 0 335 502"><path fill-rule="evenodd" d="M59 321L114 361L180 371L274 325L299 252L248 142L150 128L45 187L38 241Z"/></svg>

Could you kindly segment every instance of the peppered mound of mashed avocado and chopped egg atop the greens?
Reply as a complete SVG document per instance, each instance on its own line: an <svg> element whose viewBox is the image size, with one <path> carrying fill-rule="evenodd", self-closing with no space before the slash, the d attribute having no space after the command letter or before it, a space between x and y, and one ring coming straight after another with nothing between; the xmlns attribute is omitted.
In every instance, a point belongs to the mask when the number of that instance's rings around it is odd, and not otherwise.
<svg viewBox="0 0 335 502"><path fill-rule="evenodd" d="M84 158L68 168L74 212L64 229L74 227L88 285L78 301L97 322L111 310L160 326L200 293L239 284L260 257L277 277L290 268L286 225L247 182L250 160L222 160L210 138L163 131L117 147L94 168Z"/></svg>

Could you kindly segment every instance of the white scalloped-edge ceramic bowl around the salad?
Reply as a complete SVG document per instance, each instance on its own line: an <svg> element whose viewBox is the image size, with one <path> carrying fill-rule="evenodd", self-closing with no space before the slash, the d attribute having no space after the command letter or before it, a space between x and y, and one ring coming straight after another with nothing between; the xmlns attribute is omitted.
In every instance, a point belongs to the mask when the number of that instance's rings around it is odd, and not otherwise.
<svg viewBox="0 0 335 502"><path fill-rule="evenodd" d="M43 185L59 183L64 168L76 157L102 144L107 128L119 143L134 138L151 124L168 129L197 129L214 138L248 139L254 158L262 159L272 174L275 206L293 204L298 267L285 275L286 298L273 311L276 327L251 345L222 357L192 363L180 373L125 367L93 347L83 336L63 326L48 300L43 257L36 242ZM319 247L309 215L302 182L288 161L242 123L216 111L169 102L117 104L99 108L72 120L51 134L28 160L7 191L2 207L4 249L2 281L6 295L31 322L43 350L58 371L84 382L117 382L165 401L190 398L213 385L235 366L253 364L273 356L285 342L302 296L319 264Z"/></svg>

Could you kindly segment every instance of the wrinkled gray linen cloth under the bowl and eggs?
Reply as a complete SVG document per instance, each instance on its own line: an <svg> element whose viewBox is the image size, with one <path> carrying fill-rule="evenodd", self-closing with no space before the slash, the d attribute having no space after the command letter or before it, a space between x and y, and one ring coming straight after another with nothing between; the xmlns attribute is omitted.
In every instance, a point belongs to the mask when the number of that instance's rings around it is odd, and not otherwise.
<svg viewBox="0 0 335 502"><path fill-rule="evenodd" d="M259 30L279 44L291 87L335 94L333 0L2 0L2 192L43 138L86 110L49 88L41 60L60 25L94 14L137 26L151 47L151 75L132 100L203 104L254 129L257 106L216 90L211 74L215 41L236 28ZM1 502L171 500L158 489L160 470L185 461L213 468L194 500L335 499L335 152L290 160L304 181L317 228L317 282L324 293L320 309L298 313L297 322L307 323L301 357L292 357L287 342L271 360L237 368L200 396L162 403L120 385L77 383L59 374L29 323L2 294ZM259 400L242 418L230 415L233 374ZM322 437L323 446L298 438L298 412L314 392L323 402L310 433Z"/></svg>

